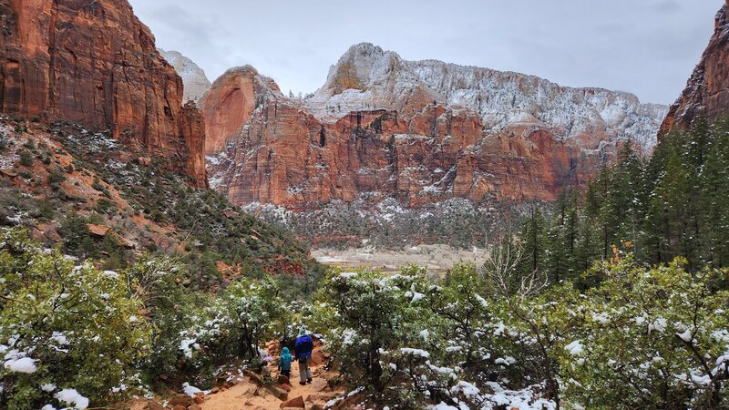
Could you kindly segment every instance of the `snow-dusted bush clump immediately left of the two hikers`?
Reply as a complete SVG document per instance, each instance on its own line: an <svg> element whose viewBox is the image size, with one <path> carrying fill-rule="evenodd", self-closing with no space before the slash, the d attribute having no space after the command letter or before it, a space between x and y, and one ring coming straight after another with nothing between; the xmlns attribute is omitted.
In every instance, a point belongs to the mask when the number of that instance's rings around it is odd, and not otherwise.
<svg viewBox="0 0 729 410"><path fill-rule="evenodd" d="M152 381L210 386L221 364L255 358L280 322L282 300L271 278L239 278L217 294L190 292L186 272L168 258L142 258L129 270L154 323L145 369Z"/></svg>

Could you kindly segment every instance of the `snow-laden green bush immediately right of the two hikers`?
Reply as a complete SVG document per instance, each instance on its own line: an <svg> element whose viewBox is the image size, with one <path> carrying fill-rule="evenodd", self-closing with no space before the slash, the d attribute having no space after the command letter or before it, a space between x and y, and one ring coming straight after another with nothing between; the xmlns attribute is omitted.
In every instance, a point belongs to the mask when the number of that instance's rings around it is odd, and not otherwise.
<svg viewBox="0 0 729 410"><path fill-rule="evenodd" d="M505 332L494 315L503 307L479 294L483 285L469 265L437 283L415 266L392 276L334 270L318 295L316 327L346 379L379 405L553 408L540 398L540 379L529 388L502 384L515 363L504 352L523 338Z"/></svg>

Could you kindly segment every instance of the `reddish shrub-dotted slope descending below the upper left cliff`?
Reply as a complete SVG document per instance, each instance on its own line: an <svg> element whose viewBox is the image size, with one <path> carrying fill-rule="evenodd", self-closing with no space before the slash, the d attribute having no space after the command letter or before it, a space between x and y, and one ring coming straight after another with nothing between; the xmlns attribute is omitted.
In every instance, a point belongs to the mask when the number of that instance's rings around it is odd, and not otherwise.
<svg viewBox="0 0 729 410"><path fill-rule="evenodd" d="M211 190L191 188L145 155L108 132L0 116L0 228L26 226L36 240L70 254L68 242L83 234L94 253L76 255L101 261L118 256L105 248L109 238L128 261L145 251L183 251L197 261L204 251L215 266L211 277L197 277L206 288L240 274L231 261L266 272L306 272L308 249L289 232ZM74 216L88 221L88 232L69 233Z"/></svg>

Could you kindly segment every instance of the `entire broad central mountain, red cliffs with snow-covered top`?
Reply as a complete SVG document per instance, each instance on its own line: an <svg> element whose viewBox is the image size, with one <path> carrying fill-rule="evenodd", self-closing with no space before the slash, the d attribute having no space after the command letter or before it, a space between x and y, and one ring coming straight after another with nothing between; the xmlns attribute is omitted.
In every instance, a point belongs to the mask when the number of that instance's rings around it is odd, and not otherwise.
<svg viewBox="0 0 729 410"><path fill-rule="evenodd" d="M305 100L252 68L226 73L209 95L210 185L236 204L293 210L363 198L553 200L622 141L652 149L666 110L625 93L408 62L370 44L347 51Z"/></svg>

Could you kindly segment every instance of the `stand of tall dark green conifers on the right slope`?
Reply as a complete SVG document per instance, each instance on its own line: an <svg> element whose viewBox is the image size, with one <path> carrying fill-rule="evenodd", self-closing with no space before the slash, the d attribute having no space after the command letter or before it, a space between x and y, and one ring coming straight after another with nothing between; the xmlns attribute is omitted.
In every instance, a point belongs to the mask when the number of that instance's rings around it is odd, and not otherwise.
<svg viewBox="0 0 729 410"><path fill-rule="evenodd" d="M624 145L587 189L560 195L551 215L531 210L519 237L522 273L580 280L625 243L644 265L687 261L689 272L729 265L729 118L662 137L651 159ZM590 283L583 283L587 286Z"/></svg>

